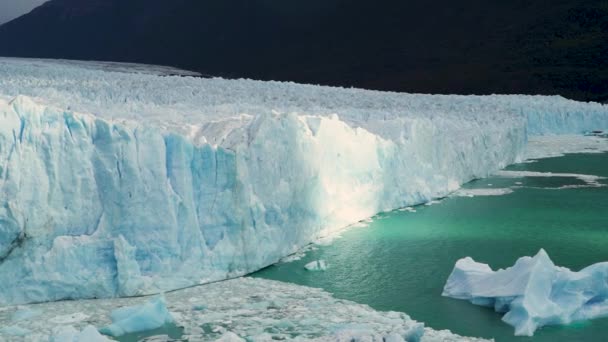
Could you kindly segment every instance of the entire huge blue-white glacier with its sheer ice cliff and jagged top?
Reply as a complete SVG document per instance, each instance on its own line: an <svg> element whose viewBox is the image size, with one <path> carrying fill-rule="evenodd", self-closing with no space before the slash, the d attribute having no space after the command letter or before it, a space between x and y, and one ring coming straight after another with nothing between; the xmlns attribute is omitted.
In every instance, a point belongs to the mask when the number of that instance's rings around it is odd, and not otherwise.
<svg viewBox="0 0 608 342"><path fill-rule="evenodd" d="M608 128L561 97L432 96L0 59L0 305L253 272Z"/></svg>

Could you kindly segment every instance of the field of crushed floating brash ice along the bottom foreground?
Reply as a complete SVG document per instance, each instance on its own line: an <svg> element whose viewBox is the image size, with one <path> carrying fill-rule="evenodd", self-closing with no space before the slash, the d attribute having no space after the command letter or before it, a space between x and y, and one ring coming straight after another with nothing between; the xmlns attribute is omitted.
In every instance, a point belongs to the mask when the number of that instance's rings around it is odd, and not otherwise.
<svg viewBox="0 0 608 342"><path fill-rule="evenodd" d="M399 312L376 311L369 306L338 299L315 288L266 279L238 278L191 287L165 294L175 325L189 341L485 341L447 330L436 331ZM24 342L48 341L57 331L75 334L87 326L110 324L110 312L142 307L147 297L78 300L27 305L42 312L39 319L19 322L29 333ZM197 308L205 307L204 311ZM0 326L11 324L16 307L0 311ZM88 318L80 322L55 323L60 315ZM0 340L11 336L1 335ZM179 336L175 336L178 338ZM149 340L163 340L160 336ZM69 340L72 342L72 340ZM78 342L94 340L80 340Z"/></svg>

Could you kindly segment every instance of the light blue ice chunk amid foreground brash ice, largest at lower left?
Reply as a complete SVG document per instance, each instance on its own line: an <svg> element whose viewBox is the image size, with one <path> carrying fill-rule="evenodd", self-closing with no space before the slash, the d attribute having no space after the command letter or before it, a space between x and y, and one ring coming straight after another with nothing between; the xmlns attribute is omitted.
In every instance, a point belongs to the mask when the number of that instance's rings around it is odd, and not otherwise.
<svg viewBox="0 0 608 342"><path fill-rule="evenodd" d="M109 336L157 329L174 321L167 310L163 296L158 296L143 305L116 309L112 311L110 317L112 324L99 330Z"/></svg>

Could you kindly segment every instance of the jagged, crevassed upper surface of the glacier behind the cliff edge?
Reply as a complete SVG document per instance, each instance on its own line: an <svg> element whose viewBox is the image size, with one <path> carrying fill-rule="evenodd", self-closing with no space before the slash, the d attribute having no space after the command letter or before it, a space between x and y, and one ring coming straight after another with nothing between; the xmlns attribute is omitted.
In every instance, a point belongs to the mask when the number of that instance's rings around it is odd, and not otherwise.
<svg viewBox="0 0 608 342"><path fill-rule="evenodd" d="M142 65L0 58L0 94L42 104L134 120L189 137L197 144L232 146L255 116L336 114L379 136L407 139L410 126L433 121L455 134L463 121L512 125L527 119L531 134L582 133L602 127L607 108L559 96L423 95L302 85L289 82L163 77L188 72ZM567 121L565 123L564 121ZM410 129L408 129L410 128ZM237 141L233 141L236 139Z"/></svg>

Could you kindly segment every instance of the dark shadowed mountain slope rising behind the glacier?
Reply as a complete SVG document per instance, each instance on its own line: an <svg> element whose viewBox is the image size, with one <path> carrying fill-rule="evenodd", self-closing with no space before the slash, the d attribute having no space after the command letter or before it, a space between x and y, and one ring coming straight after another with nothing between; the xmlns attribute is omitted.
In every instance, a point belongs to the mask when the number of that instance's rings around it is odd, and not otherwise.
<svg viewBox="0 0 608 342"><path fill-rule="evenodd" d="M52 0L0 55L432 93L608 99L608 2Z"/></svg>

